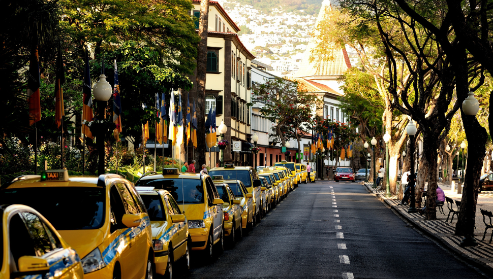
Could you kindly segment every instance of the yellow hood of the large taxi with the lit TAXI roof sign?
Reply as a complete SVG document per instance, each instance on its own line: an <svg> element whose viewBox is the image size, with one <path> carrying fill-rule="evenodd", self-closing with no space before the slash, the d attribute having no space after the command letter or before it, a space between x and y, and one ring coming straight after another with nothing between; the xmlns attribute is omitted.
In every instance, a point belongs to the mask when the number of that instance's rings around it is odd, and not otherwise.
<svg viewBox="0 0 493 279"><path fill-rule="evenodd" d="M104 233L96 230L60 230L61 237L67 242L82 259L103 243ZM103 252L103 251L101 251Z"/></svg>

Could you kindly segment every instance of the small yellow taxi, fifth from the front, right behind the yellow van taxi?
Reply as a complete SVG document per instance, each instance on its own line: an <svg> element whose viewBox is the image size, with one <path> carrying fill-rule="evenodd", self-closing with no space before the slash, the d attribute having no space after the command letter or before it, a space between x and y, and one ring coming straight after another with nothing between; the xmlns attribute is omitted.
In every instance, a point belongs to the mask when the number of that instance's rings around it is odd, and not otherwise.
<svg viewBox="0 0 493 279"><path fill-rule="evenodd" d="M236 199L228 184L215 182L215 188L218 189L219 197L224 201L224 232L225 236L229 236L229 243L232 247L243 236L241 233L243 207L241 207L241 201Z"/></svg>

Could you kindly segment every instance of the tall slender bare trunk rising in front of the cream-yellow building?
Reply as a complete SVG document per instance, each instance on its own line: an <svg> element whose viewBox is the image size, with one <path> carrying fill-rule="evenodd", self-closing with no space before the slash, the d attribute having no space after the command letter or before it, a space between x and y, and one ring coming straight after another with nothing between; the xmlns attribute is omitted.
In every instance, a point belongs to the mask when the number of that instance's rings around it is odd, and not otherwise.
<svg viewBox="0 0 493 279"><path fill-rule="evenodd" d="M209 0L200 1L199 37L197 48L197 152L195 160L198 166L205 164L205 80L207 77L207 26L209 19ZM201 167L196 168L197 172Z"/></svg>

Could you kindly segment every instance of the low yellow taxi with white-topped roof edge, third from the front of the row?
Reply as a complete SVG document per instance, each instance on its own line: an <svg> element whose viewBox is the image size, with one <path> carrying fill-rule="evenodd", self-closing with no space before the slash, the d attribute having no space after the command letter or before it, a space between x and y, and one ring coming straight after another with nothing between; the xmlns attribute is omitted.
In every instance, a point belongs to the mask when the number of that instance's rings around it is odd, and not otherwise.
<svg viewBox="0 0 493 279"><path fill-rule="evenodd" d="M182 272L190 269L190 238L187 218L166 190L137 187L149 214L156 273L173 278L173 267L181 261Z"/></svg>

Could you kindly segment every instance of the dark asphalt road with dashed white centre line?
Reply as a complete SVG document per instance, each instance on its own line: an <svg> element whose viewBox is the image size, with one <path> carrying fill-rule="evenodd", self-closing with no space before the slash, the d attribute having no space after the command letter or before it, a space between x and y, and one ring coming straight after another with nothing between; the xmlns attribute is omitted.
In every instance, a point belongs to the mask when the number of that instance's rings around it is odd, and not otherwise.
<svg viewBox="0 0 493 279"><path fill-rule="evenodd" d="M312 183L283 200L190 278L486 278L421 235L358 183Z"/></svg>

